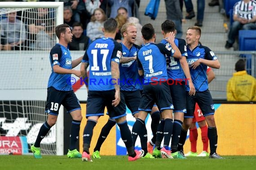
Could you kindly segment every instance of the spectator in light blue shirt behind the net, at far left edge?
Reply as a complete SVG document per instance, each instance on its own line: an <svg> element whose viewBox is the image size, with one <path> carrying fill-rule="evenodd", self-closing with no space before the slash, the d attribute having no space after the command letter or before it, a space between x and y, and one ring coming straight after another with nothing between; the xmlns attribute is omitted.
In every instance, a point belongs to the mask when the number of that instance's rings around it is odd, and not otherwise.
<svg viewBox="0 0 256 170"><path fill-rule="evenodd" d="M7 18L1 20L0 28L0 37L3 41L3 44L0 46L2 50L23 49L23 42L26 39L26 28L24 23L16 18L16 12L8 13Z"/></svg>

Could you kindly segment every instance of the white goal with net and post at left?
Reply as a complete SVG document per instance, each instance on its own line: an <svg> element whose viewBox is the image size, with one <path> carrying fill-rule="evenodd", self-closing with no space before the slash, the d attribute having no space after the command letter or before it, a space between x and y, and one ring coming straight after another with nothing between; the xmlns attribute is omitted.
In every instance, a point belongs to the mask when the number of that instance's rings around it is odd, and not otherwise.
<svg viewBox="0 0 256 170"><path fill-rule="evenodd" d="M0 2L0 154L30 152L47 120L49 50L62 23L63 2ZM42 140L41 153L63 155L62 115Z"/></svg>

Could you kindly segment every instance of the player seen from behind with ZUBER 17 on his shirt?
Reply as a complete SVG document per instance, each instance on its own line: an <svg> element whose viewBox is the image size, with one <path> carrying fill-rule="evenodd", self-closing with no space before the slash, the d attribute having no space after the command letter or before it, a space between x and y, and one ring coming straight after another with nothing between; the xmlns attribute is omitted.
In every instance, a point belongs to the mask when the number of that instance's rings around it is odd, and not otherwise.
<svg viewBox="0 0 256 170"><path fill-rule="evenodd" d="M104 115L105 106L110 119L115 119L120 128L121 138L128 151L128 161L141 158L144 151L134 150L132 135L126 121L126 107L124 96L119 87L119 60L122 55L122 46L114 38L117 32L117 21L109 18L104 22L104 37L93 41L84 53L81 64L81 74L87 77L87 68L90 65L90 79L96 82L112 80L108 84L87 85L88 99L86 106L87 123L84 127L83 161L92 161L89 148L93 136L93 128ZM88 79L86 79L88 80ZM88 82L88 81L87 81Z"/></svg>

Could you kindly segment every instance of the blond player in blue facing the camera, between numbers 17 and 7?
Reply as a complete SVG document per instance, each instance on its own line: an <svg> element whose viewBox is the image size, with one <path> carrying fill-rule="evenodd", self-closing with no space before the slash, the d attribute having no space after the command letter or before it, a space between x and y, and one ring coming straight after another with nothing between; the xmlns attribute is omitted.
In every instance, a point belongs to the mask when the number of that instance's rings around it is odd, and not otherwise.
<svg viewBox="0 0 256 170"><path fill-rule="evenodd" d="M140 89L143 86L143 76L139 76L137 68L137 52L141 47L137 46L135 43L137 30L133 23L125 23L122 26L121 34L124 38L122 45L123 55L120 58L120 90L124 95L125 104L129 110L131 110L132 115L138 117L138 108L141 101ZM159 122L159 120L158 120ZM101 133L98 137L97 144L93 150L93 158L100 157L100 149L103 142L106 140L110 130L115 126L115 119L108 119L107 123L102 127ZM146 125L145 125L146 129ZM147 134L147 131L146 131ZM147 136L141 135L141 149L144 150L144 158L154 158L147 151ZM133 144L135 141L133 141Z"/></svg>

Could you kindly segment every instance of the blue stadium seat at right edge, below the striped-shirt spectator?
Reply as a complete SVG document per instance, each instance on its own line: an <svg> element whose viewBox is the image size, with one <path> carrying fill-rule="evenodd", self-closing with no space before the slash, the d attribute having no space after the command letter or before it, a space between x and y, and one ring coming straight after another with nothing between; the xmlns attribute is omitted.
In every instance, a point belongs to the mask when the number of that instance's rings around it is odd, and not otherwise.
<svg viewBox="0 0 256 170"><path fill-rule="evenodd" d="M239 51L256 51L256 30L239 30ZM246 70L248 74L252 74L252 55L242 54L242 58L246 58Z"/></svg>

